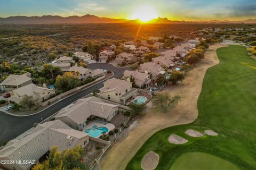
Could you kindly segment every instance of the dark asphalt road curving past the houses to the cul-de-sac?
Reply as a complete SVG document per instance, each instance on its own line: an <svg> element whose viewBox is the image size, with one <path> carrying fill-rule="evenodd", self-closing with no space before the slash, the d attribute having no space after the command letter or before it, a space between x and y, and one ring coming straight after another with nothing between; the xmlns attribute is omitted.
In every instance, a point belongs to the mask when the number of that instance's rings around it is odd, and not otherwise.
<svg viewBox="0 0 256 170"><path fill-rule="evenodd" d="M88 64L87 67L89 69L111 70L114 72L114 78L121 77L125 70L131 70L129 67L115 67L108 63L93 63ZM99 89L101 87L103 87L102 82L95 84L90 88L84 89L73 96L65 98L58 103L46 108L44 111L31 116L17 117L6 114L4 112L0 112L0 146L2 146L3 141L12 140L13 138L18 137L18 135L30 129L35 122L41 122L41 117L43 120L45 120L45 118L60 111L61 108L73 103L81 97L90 94L94 89Z"/></svg>

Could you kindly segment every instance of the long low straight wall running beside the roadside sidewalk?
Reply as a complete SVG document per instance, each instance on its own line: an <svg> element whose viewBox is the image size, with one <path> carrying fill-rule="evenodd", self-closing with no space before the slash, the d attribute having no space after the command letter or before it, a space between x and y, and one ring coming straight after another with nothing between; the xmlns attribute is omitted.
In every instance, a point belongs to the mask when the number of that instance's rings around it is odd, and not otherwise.
<svg viewBox="0 0 256 170"><path fill-rule="evenodd" d="M85 87L87 87L87 86L89 86L89 85L91 85L91 84L93 84L93 83L95 83L95 82L97 82L97 81L99 81L99 80L102 80L102 79L104 79L104 78L105 78L105 75L102 76L102 77L97 78L96 80L94 80L94 81L92 81L92 82L90 82L90 83L84 84L83 86L79 86L79 87L77 87L77 88L74 88L74 89L68 90L68 91L66 91L66 92L63 92L62 94L60 94L60 95L58 95L58 96L55 96L55 97L53 97L53 98L51 98L51 99L49 99L49 100L46 100L46 101L44 101L44 102L39 103L39 105L40 105L40 106L46 106L46 105L48 105L49 103L52 103L53 101L58 100L59 98L61 98L61 97L63 97L63 96L70 95L70 94L72 94L73 92L75 92L75 91L77 91L77 90L82 90L83 88L85 88Z"/></svg>

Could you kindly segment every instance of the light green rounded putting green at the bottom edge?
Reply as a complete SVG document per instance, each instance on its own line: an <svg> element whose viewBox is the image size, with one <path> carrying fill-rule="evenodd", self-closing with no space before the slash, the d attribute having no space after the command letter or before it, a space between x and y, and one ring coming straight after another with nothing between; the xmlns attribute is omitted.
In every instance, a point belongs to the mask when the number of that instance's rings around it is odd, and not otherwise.
<svg viewBox="0 0 256 170"><path fill-rule="evenodd" d="M173 163L170 170L239 170L235 165L219 157L202 152L183 154Z"/></svg>

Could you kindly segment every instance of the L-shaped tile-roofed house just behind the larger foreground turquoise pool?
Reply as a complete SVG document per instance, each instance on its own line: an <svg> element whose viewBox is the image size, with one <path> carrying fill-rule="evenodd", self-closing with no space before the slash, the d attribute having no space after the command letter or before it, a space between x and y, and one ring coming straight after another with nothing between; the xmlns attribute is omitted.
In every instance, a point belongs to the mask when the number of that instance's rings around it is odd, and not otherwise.
<svg viewBox="0 0 256 170"><path fill-rule="evenodd" d="M93 96L78 99L73 105L62 108L55 118L71 128L83 130L89 119L98 118L101 121L110 121L117 111L117 105L105 103Z"/></svg>

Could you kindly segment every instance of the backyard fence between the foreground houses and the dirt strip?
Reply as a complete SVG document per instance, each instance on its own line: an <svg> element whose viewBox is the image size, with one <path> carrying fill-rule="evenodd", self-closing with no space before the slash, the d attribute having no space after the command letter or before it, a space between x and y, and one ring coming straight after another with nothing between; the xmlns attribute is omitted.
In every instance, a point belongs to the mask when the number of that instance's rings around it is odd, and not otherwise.
<svg viewBox="0 0 256 170"><path fill-rule="evenodd" d="M123 131L123 129L125 128L126 124L130 121L131 116L129 116L127 118L127 120L124 122L124 125L119 129L119 131L115 134L115 138L113 138L112 140L108 141L109 144L102 149L102 151L100 152L100 154L98 155L97 158L95 158L94 162L90 165L89 169L92 170L93 167L100 161L100 159L102 158L102 156L104 155L104 153L107 151L107 149L112 145L112 143L116 140L116 138L118 137L118 135Z"/></svg>

